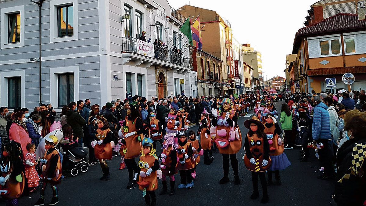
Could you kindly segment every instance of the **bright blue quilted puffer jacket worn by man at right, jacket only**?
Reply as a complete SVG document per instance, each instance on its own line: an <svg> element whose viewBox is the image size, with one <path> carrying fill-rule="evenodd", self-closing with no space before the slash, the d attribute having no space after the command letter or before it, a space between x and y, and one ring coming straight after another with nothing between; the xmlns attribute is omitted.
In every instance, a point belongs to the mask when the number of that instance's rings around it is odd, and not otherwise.
<svg viewBox="0 0 366 206"><path fill-rule="evenodd" d="M329 140L331 139L329 112L328 107L324 103L320 103L313 108L313 139Z"/></svg>

